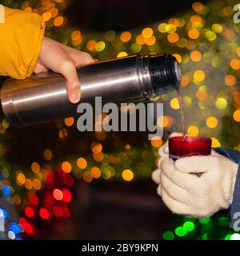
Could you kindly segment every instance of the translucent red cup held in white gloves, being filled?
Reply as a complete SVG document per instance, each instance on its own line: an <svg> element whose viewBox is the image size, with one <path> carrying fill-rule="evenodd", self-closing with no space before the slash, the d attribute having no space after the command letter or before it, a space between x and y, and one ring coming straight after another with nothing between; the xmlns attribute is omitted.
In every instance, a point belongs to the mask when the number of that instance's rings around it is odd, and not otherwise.
<svg viewBox="0 0 240 256"><path fill-rule="evenodd" d="M205 137L186 137L176 136L169 138L169 158L174 161L178 158L190 157L194 155L211 154L212 140Z"/></svg>

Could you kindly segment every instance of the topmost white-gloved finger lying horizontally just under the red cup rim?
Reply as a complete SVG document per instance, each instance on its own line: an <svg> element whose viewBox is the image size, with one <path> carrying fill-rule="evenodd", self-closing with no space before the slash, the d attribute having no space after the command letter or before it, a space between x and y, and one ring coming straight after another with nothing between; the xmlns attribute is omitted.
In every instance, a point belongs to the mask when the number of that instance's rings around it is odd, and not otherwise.
<svg viewBox="0 0 240 256"><path fill-rule="evenodd" d="M182 173L206 173L218 169L219 159L216 156L186 157L178 159L175 166Z"/></svg>

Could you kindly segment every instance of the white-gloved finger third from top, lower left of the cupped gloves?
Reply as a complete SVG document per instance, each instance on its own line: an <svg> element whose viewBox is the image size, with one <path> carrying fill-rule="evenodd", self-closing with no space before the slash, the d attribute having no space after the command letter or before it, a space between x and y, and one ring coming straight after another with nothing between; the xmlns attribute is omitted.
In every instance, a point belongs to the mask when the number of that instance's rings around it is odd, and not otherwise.
<svg viewBox="0 0 240 256"><path fill-rule="evenodd" d="M177 186L166 174L161 173L161 186L166 190L166 193L169 194L171 198L178 202L185 203L186 200L186 190L183 190L182 187Z"/></svg>

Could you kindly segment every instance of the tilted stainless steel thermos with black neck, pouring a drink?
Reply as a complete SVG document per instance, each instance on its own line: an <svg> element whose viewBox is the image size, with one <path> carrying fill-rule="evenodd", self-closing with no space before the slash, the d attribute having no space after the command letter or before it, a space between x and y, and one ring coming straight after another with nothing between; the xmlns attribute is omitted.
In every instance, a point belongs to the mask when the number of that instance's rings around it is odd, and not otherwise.
<svg viewBox="0 0 240 256"><path fill-rule="evenodd" d="M95 96L106 102L140 102L178 90L181 71L176 58L167 54L134 55L78 68L82 98L94 105ZM79 115L78 104L69 102L66 80L53 72L25 80L7 79L1 90L2 110L15 127Z"/></svg>

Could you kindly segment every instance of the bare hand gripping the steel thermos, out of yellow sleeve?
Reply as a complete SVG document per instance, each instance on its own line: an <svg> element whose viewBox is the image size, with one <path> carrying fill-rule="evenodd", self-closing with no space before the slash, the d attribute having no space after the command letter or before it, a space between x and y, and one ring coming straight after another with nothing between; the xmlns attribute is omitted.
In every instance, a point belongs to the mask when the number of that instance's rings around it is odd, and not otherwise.
<svg viewBox="0 0 240 256"><path fill-rule="evenodd" d="M70 102L77 103L80 100L81 92L76 66L90 62L94 62L94 58L90 54L64 46L50 38L44 38L34 73L52 70L62 74L66 78L66 91Z"/></svg>

